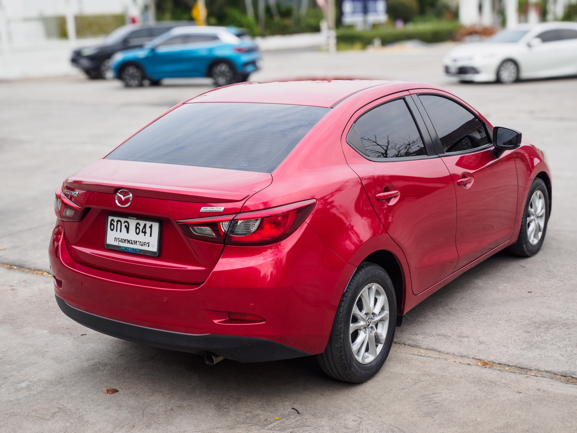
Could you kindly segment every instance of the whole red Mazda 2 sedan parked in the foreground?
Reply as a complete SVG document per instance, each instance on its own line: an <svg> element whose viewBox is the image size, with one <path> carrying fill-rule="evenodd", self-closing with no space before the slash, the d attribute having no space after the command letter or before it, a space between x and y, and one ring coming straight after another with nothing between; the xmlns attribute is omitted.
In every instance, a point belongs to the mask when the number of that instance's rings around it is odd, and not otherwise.
<svg viewBox="0 0 577 433"><path fill-rule="evenodd" d="M383 365L404 313L544 241L538 148L432 85L242 83L186 100L58 189L56 300L93 330L256 362Z"/></svg>

